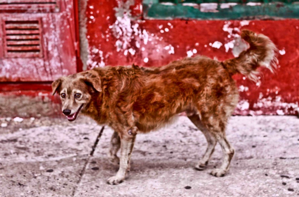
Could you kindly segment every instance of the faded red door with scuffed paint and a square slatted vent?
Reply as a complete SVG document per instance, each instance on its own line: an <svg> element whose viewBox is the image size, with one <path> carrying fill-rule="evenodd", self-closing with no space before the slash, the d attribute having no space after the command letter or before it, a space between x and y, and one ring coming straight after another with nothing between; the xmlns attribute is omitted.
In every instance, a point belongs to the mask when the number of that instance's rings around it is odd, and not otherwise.
<svg viewBox="0 0 299 197"><path fill-rule="evenodd" d="M1 0L0 25L0 82L77 71L73 0Z"/></svg>

